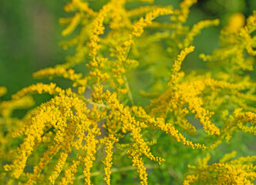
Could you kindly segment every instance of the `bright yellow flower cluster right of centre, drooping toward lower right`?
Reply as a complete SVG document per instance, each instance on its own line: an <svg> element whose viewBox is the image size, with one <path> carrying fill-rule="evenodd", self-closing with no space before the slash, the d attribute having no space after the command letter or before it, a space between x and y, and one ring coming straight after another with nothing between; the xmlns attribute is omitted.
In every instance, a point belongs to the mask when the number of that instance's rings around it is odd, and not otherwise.
<svg viewBox="0 0 256 185"><path fill-rule="evenodd" d="M184 116L183 119L186 119L185 116L188 113L194 113L195 118L200 120L200 123L203 124L204 130L207 133L220 135L220 130L211 123L213 113L202 107L203 99L200 98L200 94L203 93L206 86L207 80L198 80L194 82L184 82L178 85L177 90L174 91L172 89L167 90L166 93L163 93L162 96L151 102L151 114L161 113L162 116L166 116L169 111L173 113L179 111L179 113L181 113L180 116ZM186 104L188 105L188 109L184 108Z"/></svg>

